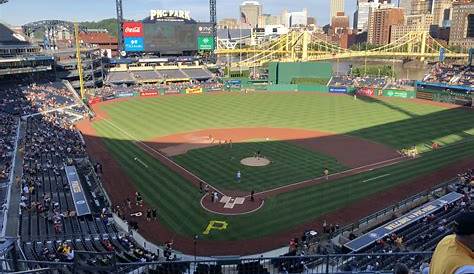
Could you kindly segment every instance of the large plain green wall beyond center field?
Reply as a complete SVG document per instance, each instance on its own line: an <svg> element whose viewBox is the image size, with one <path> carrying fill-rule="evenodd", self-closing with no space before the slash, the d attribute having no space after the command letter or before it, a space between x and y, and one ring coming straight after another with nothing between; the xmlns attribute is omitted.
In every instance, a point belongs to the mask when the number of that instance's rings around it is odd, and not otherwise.
<svg viewBox="0 0 474 274"><path fill-rule="evenodd" d="M272 84L293 84L293 79L331 79L332 65L327 62L274 62L268 66L268 80Z"/></svg>

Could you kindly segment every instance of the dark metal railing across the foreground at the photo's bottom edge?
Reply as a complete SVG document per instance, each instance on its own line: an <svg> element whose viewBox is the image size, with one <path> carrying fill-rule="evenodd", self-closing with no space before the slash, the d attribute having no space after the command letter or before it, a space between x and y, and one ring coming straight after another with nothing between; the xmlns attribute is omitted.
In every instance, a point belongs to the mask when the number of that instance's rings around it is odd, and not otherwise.
<svg viewBox="0 0 474 274"><path fill-rule="evenodd" d="M431 258L431 252L377 253L351 255L319 255L241 259L240 257L214 260L117 263L113 253L77 252L72 262L17 261L21 273L393 273L396 264L405 264L412 273L421 272ZM90 258L90 260L86 260ZM99 258L106 258L101 260ZM13 273L11 259L0 260L1 273ZM18 270L17 270L18 271ZM18 273L18 272L17 272Z"/></svg>

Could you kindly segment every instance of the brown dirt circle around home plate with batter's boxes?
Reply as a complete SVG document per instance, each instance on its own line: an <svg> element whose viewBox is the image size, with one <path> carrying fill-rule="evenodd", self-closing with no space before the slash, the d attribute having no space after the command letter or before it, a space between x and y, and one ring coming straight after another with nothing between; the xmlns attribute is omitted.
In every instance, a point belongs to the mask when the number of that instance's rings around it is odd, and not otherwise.
<svg viewBox="0 0 474 274"><path fill-rule="evenodd" d="M249 197L235 197L241 196L242 193L233 193L236 195L229 196L224 194L219 200L212 201L209 194L206 194L201 199L201 206L212 213L221 215L242 215L255 212L263 207L264 199L255 197L251 200ZM242 196L245 196L243 194Z"/></svg>

